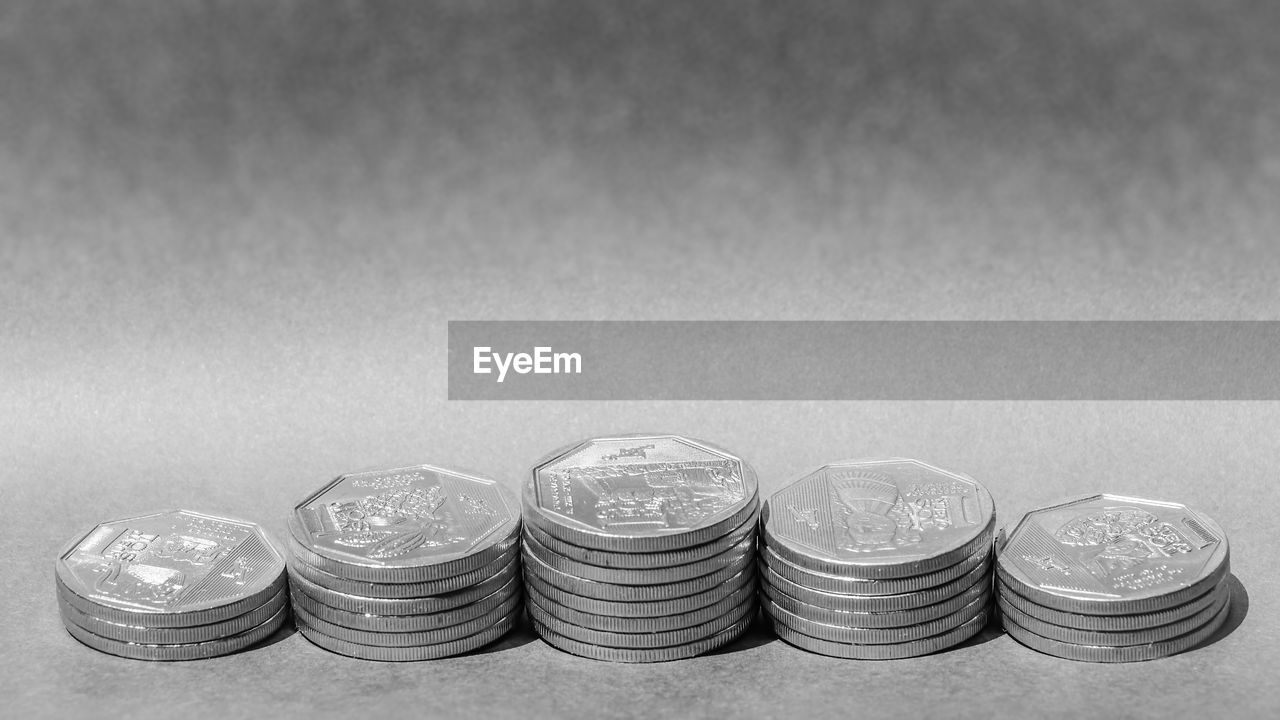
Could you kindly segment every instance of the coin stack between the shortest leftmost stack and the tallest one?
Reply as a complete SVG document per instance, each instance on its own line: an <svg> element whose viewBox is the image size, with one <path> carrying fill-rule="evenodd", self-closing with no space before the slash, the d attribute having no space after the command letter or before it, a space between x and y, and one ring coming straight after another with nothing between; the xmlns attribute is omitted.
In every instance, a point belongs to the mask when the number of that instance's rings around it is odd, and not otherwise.
<svg viewBox="0 0 1280 720"><path fill-rule="evenodd" d="M294 621L365 660L448 657L521 614L520 510L493 479L431 465L342 475L289 516Z"/></svg>

